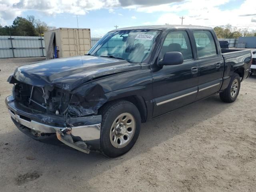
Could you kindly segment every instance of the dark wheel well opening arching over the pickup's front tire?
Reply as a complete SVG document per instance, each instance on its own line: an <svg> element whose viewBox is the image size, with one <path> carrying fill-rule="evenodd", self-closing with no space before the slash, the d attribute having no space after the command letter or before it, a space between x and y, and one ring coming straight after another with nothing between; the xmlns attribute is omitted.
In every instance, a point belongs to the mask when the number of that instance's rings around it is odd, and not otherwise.
<svg viewBox="0 0 256 192"><path fill-rule="evenodd" d="M103 106L101 106L98 111L100 111L106 104L108 104L110 102L115 102L118 100L126 100L126 101L129 101L132 104L134 104L140 112L141 122L146 122L147 108L146 108L146 104L145 104L145 101L142 98L142 96L133 95L133 96L128 96L128 97L118 98L116 100L110 100L110 101L106 102Z"/></svg>

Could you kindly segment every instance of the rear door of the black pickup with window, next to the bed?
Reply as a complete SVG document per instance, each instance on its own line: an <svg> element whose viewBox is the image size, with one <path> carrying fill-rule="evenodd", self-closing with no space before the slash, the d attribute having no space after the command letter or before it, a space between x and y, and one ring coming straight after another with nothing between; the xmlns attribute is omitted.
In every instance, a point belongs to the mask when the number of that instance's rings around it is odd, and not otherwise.
<svg viewBox="0 0 256 192"><path fill-rule="evenodd" d="M198 95L196 100L212 95L220 89L224 61L210 30L193 30L198 58Z"/></svg>

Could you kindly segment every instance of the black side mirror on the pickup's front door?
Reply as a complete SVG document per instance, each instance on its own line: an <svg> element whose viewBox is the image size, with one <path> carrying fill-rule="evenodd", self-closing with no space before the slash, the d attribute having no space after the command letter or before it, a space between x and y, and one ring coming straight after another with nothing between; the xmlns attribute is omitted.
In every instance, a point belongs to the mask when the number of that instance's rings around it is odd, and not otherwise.
<svg viewBox="0 0 256 192"><path fill-rule="evenodd" d="M180 65L183 61L184 58L181 52L166 52L164 58L159 61L158 66Z"/></svg>

